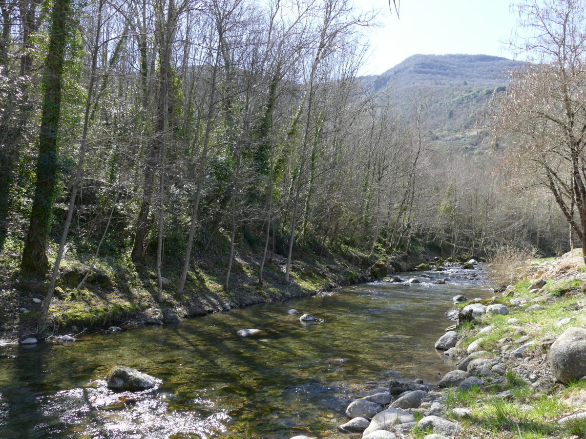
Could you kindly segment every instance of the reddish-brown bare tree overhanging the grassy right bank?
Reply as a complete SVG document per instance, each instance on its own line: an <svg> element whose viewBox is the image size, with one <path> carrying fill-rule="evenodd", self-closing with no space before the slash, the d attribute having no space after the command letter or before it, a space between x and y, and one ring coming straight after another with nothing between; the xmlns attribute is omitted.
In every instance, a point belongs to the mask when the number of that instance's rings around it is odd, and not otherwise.
<svg viewBox="0 0 586 439"><path fill-rule="evenodd" d="M512 72L497 133L511 136L505 158L517 180L551 191L586 261L584 2L527 1L519 11L529 34L519 48L538 59Z"/></svg>

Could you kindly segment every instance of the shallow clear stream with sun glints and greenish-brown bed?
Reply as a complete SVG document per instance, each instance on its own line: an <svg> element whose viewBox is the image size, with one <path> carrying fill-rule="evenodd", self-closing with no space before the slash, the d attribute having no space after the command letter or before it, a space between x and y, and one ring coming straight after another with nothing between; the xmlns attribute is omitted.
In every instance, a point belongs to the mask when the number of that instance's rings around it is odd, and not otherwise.
<svg viewBox="0 0 586 439"><path fill-rule="evenodd" d="M452 270L467 275L476 270ZM481 280L373 282L67 345L0 347L0 437L338 438L355 397L391 378L423 378L452 364L434 350L451 324L452 297L492 295ZM301 324L296 308L324 323ZM258 328L257 337L236 331ZM114 393L114 365L163 380L156 390Z"/></svg>

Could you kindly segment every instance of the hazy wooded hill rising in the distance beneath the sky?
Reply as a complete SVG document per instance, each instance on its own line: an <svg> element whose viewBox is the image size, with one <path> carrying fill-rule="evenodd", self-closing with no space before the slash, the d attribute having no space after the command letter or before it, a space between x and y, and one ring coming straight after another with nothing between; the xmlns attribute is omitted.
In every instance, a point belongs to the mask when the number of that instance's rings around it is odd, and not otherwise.
<svg viewBox="0 0 586 439"><path fill-rule="evenodd" d="M425 98L432 142L473 153L488 143L479 116L493 94L506 91L507 71L522 66L521 61L482 54L417 54L364 82L386 94L407 119L411 102Z"/></svg>

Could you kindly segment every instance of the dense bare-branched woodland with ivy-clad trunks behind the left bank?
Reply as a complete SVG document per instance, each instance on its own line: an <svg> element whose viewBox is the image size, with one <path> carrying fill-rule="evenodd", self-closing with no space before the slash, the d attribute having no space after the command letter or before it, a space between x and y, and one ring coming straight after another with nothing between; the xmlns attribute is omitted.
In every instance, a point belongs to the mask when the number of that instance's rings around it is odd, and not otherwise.
<svg viewBox="0 0 586 439"><path fill-rule="evenodd" d="M398 111L392 81L360 76L376 15L347 0L1 8L2 279L46 293L41 326L54 294L79 299L72 270L77 290L124 272L163 303L262 290L267 270L282 289L394 253L570 248L551 192L503 166L506 139L442 148L433 87ZM473 110L465 130L490 132Z"/></svg>

